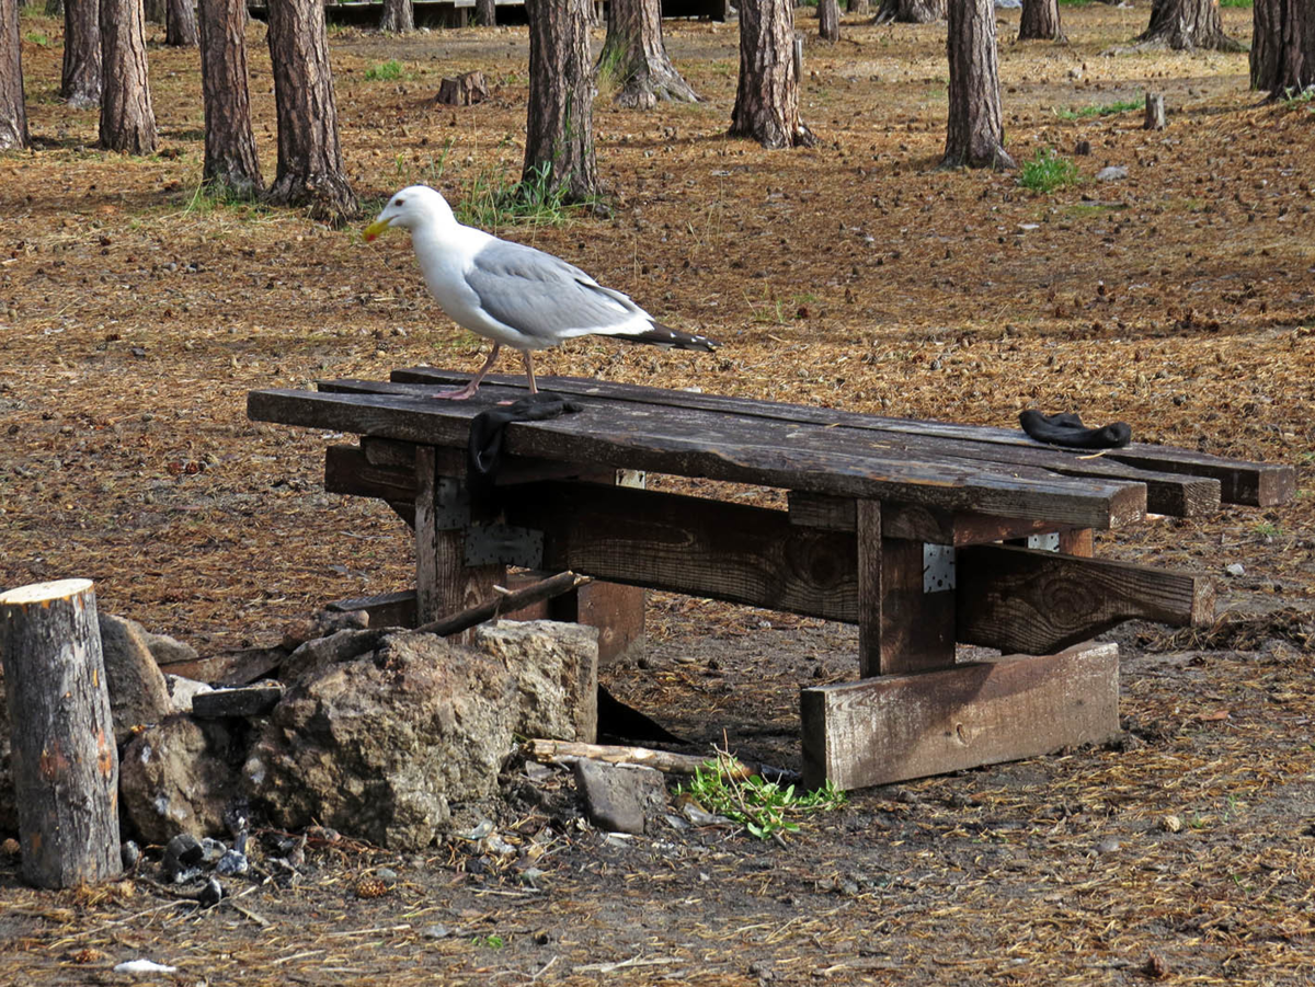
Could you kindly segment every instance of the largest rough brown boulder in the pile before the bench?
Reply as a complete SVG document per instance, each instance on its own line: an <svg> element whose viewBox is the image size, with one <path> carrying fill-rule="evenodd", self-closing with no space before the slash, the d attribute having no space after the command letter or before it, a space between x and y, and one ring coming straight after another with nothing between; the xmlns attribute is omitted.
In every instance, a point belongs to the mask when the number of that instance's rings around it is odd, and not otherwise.
<svg viewBox="0 0 1315 987"><path fill-rule="evenodd" d="M515 687L501 660L434 635L388 635L288 690L252 745L245 787L284 829L317 823L421 850L446 831L454 802L496 795L515 745Z"/></svg>

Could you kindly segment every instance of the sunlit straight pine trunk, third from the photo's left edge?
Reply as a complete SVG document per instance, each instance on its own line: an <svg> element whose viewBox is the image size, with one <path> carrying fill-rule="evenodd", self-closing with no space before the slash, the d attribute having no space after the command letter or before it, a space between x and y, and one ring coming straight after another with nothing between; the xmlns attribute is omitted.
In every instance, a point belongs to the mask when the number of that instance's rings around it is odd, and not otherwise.
<svg viewBox="0 0 1315 987"><path fill-rule="evenodd" d="M100 146L154 154L159 135L146 70L142 0L100 0Z"/></svg>

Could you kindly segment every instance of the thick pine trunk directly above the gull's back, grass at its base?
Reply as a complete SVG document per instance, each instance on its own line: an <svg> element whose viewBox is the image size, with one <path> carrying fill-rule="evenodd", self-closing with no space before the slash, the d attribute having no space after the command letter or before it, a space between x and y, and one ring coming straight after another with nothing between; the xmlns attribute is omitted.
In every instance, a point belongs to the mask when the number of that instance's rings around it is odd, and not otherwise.
<svg viewBox="0 0 1315 987"><path fill-rule="evenodd" d="M598 193L593 152L593 0L526 0L530 21L530 108L521 180L571 201Z"/></svg>

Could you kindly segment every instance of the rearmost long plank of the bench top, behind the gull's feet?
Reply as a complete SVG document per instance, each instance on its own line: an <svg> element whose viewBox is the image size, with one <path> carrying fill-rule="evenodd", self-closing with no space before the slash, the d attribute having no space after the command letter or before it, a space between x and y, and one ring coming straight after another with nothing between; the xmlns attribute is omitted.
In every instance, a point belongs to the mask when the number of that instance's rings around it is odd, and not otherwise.
<svg viewBox="0 0 1315 987"><path fill-rule="evenodd" d="M460 385L469 375L452 371L439 371L429 367L413 367L392 372L394 381L425 384ZM509 389L522 388L523 379L492 375L488 381ZM961 439L972 443L1001 444L1031 449L1036 453L1056 455L1073 460L1085 452L1070 452L1038 443L1020 428L1001 428L993 426L956 425L924 419L888 418L855 411L840 411L826 407L806 407L775 401L726 397L719 394L696 394L684 390L646 388L634 384L609 384L606 381L583 377L540 377L539 385L547 390L563 394L594 396L611 401L643 402L647 405L667 405L681 409L715 410L742 417L784 419L823 426L844 426L873 431L914 434L918 436L939 436ZM1193 452L1170 446L1132 443L1123 449L1110 449L1102 459L1124 463L1131 467L1162 473L1185 473L1197 477L1214 478L1220 482L1220 495L1224 503L1241 503L1269 507L1286 503L1295 495L1297 472L1293 467L1278 463L1251 463L1208 452ZM1090 460L1089 460L1090 461ZM1169 514L1164 510L1157 513Z"/></svg>

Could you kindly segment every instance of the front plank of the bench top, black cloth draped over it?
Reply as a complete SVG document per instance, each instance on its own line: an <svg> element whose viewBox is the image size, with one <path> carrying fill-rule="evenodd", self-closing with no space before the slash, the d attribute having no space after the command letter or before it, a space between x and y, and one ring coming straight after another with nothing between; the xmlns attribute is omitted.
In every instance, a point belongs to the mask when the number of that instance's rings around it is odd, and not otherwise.
<svg viewBox="0 0 1315 987"><path fill-rule="evenodd" d="M404 386L404 385L393 385ZM373 401L366 414L362 401ZM454 402L444 402L447 407ZM456 418L438 423L439 402L391 394L252 392L249 413L262 421L347 430L383 438L454 443L452 423L466 427L477 407L460 402ZM359 417L358 417L359 415ZM355 425L352 425L355 422ZM446 430L446 431L444 431ZM622 405L589 405L580 414L508 426L510 455L643 469L681 476L922 503L947 510L1043 519L1056 524L1114 527L1145 513L1145 486L1069 478L1043 469L992 472L984 463L903 459L876 447L857 448L834 430L796 430L692 414L655 417Z"/></svg>

